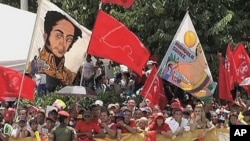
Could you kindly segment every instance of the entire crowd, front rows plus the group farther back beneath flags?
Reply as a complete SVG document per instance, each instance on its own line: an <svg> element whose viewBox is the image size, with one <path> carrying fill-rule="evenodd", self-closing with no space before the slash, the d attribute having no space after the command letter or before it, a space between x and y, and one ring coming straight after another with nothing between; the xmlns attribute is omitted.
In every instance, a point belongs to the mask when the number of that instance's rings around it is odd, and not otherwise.
<svg viewBox="0 0 250 141"><path fill-rule="evenodd" d="M173 139L185 132L205 129L201 135L204 137L216 128L250 124L250 101L245 93L237 91L234 102L223 104L215 98L206 103L191 95L184 103L173 93L166 108L161 109L159 105L152 106L148 99L138 102L133 96L140 95L154 61L147 63L145 80L126 68L109 79L103 73L101 60L94 65L88 55L86 61L81 68L81 85L99 93L112 91L127 97L125 103L104 104L99 99L85 107L76 103L69 110L54 104L52 110L21 105L18 116L13 107L2 107L0 140L33 137L44 141L94 141L107 136L122 140L123 133L144 133L145 140L150 141L156 140L158 134Z"/></svg>

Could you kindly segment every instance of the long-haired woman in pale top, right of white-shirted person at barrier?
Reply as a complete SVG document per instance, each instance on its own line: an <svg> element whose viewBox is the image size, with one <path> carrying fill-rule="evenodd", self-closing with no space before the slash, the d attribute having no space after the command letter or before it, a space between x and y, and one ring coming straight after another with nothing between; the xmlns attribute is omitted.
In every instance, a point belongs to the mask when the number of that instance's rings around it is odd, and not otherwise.
<svg viewBox="0 0 250 141"><path fill-rule="evenodd" d="M190 120L191 131L210 128L211 126L209 120L206 118L203 106L201 104L196 105L194 108L194 116Z"/></svg>

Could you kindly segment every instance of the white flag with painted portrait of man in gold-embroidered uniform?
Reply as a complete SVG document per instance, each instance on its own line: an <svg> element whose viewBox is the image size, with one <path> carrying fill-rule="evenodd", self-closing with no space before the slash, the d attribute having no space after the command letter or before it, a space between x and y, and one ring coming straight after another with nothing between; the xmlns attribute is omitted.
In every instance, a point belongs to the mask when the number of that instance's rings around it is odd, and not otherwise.
<svg viewBox="0 0 250 141"><path fill-rule="evenodd" d="M40 1L26 71L46 74L47 87L71 85L83 63L90 36L91 31L56 5Z"/></svg>

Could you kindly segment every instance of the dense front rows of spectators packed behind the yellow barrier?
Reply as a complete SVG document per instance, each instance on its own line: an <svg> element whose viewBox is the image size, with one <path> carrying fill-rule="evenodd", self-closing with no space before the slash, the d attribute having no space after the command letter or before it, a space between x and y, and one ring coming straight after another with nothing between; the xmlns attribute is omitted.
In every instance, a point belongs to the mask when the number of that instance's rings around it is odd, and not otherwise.
<svg viewBox="0 0 250 141"><path fill-rule="evenodd" d="M111 103L104 106L96 100L89 107L76 104L74 109L65 110L60 106L49 110L41 107L18 109L14 119L13 108L3 109L0 114L1 140L8 138L34 137L51 141L91 141L106 136L122 140L123 133L144 133L146 139L161 134L175 138L185 132L205 129L202 136L216 128L230 125L249 125L250 109L240 97L232 105L218 106L196 101L195 105L182 105L173 99L169 108L149 106L148 101L136 103L129 99L126 105Z"/></svg>

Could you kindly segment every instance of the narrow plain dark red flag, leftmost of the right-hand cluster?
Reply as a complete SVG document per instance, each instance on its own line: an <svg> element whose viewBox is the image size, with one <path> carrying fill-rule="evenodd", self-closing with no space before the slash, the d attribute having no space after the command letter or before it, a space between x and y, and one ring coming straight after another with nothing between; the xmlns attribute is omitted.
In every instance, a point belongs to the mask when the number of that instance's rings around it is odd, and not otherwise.
<svg viewBox="0 0 250 141"><path fill-rule="evenodd" d="M219 98L223 100L233 101L233 97L227 80L225 64L221 54L219 55Z"/></svg>

